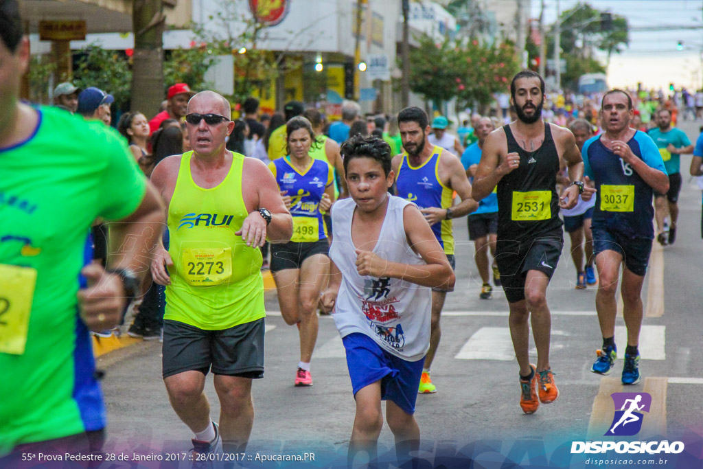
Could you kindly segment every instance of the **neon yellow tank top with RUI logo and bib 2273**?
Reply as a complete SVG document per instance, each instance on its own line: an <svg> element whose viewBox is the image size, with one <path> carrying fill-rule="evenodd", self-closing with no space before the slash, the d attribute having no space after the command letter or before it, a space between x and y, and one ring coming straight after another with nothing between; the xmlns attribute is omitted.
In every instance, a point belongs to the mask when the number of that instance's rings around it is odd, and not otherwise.
<svg viewBox="0 0 703 469"><path fill-rule="evenodd" d="M262 255L236 236L247 208L242 195L244 155L214 188L195 184L193 152L183 153L169 204L169 269L164 319L223 330L266 316Z"/></svg>

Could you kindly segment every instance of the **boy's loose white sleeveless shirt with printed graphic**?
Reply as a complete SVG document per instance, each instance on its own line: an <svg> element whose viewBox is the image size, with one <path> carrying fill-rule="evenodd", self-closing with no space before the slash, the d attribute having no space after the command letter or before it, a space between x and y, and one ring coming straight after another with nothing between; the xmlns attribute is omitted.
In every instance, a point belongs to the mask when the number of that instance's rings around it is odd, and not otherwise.
<svg viewBox="0 0 703 469"><path fill-rule="evenodd" d="M403 223L407 200L388 195L386 217L373 252L391 262L425 264L408 245ZM361 276L356 270L356 248L352 242L352 198L332 206L333 242L330 259L342 272L335 320L340 336L362 333L383 350L407 361L423 359L430 348L430 288L399 278Z"/></svg>

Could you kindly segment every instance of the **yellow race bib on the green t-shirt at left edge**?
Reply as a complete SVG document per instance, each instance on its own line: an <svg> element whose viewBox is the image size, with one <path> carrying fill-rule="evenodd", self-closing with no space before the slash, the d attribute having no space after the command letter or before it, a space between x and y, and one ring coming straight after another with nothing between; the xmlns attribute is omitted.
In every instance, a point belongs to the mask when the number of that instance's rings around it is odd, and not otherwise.
<svg viewBox="0 0 703 469"><path fill-rule="evenodd" d="M27 345L37 269L0 264L0 353L21 355Z"/></svg>

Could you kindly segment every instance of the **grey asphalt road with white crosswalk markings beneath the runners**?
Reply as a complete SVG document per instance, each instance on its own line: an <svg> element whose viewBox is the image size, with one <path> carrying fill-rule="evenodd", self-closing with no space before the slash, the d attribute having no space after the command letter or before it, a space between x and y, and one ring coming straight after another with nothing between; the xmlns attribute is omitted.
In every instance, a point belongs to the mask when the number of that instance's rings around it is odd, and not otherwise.
<svg viewBox="0 0 703 469"><path fill-rule="evenodd" d="M695 141L697 125L682 127ZM610 377L590 373L595 349L601 345L596 290L574 290L576 272L565 236L565 252L548 291L553 313L551 364L560 397L552 404L542 404L531 416L524 415L518 405L520 388L508 333L508 302L500 288L494 291L493 299L479 300L480 282L472 259L473 245L467 240L466 219L454 222L458 280L456 291L447 297L443 335L432 366L438 392L418 396L415 414L423 437L420 456L429 465L467 467L472 457L474 467L506 467L506 461L514 467L586 467L583 459L569 464L558 458L567 458L562 454L563 445L572 440L603 439L617 410L610 399L612 392L652 395L652 409L638 438L664 439L666 435L671 441L692 439L698 442L699 451L703 435L703 295L699 287L703 240L701 191L688 176L689 163L690 156L684 156L676 244L662 250L655 243L645 279L646 317L640 343L640 371L645 378L639 385L622 387L621 358ZM319 321L312 361L314 386L296 388L297 329L286 326L277 314L280 308L275 293L266 294L266 308L270 312L266 318L266 373L263 380L254 382L255 419L248 451L274 455L312 451L318 454L317 461L321 454L330 461L334 455L342 458L352 430L354 399L342 342L332 319L323 316ZM617 326L616 339L624 331L621 316ZM624 339L617 344L623 356ZM534 352L533 347L531 354ZM150 454L191 447L191 432L167 399L158 342L141 342L112 352L99 359L98 366L106 372L103 391L109 425L105 451ZM215 419L219 404L212 378L206 392ZM382 448L391 447L392 441L386 426L380 437ZM513 467L510 464L507 467Z"/></svg>

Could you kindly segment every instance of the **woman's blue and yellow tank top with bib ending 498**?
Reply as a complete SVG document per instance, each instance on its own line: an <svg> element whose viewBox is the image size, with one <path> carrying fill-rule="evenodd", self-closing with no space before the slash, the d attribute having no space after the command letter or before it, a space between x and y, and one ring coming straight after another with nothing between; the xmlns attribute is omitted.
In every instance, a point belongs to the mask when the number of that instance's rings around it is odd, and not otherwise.
<svg viewBox="0 0 703 469"><path fill-rule="evenodd" d="M290 214L293 217L295 243L313 243L327 238L327 227L318 205L325 188L333 183L332 167L322 160L311 160L306 171L290 164L290 157L278 158L269 164L273 177L281 191L288 191L292 201Z"/></svg>

